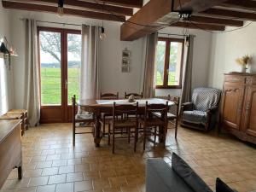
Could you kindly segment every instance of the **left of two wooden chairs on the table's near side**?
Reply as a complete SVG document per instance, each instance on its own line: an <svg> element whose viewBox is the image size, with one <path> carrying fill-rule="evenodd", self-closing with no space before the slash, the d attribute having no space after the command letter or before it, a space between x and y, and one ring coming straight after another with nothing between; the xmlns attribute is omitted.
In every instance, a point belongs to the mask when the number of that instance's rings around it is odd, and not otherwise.
<svg viewBox="0 0 256 192"><path fill-rule="evenodd" d="M131 137L134 137L134 152L136 152L136 145L137 145L137 112L138 112L138 102L136 105L116 105L113 102L113 118L112 118L112 130L111 126L108 127L108 144L110 145L110 137L113 137L113 144L112 144L112 153L114 154L114 143L116 138L128 138L128 143L130 143ZM132 119L118 119L119 113L133 113L136 115L136 118ZM132 131L133 129L133 131ZM123 131L127 132L127 136L123 135ZM121 135L121 137L115 137L115 135ZM131 136L133 134L133 136Z"/></svg>

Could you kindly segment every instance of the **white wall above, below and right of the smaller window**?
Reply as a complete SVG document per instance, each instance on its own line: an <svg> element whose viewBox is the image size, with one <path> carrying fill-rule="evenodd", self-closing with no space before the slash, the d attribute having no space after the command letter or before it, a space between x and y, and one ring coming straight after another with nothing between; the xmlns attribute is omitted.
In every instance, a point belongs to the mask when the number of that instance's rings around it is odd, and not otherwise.
<svg viewBox="0 0 256 192"><path fill-rule="evenodd" d="M183 34L183 28L166 27L160 30L160 33ZM189 30L189 34L195 35L193 68L192 68L192 89L199 86L207 86L208 66L210 61L210 52L212 44L212 34L201 30ZM160 37L168 37L159 34ZM170 36L172 38L183 38L179 36ZM181 90L156 90L157 96L180 96Z"/></svg>

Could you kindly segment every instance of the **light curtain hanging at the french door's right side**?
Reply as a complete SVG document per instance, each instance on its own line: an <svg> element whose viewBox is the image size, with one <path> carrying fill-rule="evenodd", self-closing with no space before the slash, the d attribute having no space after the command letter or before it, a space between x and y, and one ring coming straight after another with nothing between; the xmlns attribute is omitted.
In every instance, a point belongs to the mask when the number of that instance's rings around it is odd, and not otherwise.
<svg viewBox="0 0 256 192"><path fill-rule="evenodd" d="M79 99L95 99L99 96L98 49L99 27L82 26L82 66Z"/></svg>

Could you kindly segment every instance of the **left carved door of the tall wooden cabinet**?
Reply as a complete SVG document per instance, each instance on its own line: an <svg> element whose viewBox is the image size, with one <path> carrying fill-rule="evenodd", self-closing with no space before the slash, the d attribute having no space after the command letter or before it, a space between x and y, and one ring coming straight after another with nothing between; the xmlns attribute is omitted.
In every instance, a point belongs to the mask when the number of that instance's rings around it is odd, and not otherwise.
<svg viewBox="0 0 256 192"><path fill-rule="evenodd" d="M224 84L222 121L230 128L240 130L244 86Z"/></svg>

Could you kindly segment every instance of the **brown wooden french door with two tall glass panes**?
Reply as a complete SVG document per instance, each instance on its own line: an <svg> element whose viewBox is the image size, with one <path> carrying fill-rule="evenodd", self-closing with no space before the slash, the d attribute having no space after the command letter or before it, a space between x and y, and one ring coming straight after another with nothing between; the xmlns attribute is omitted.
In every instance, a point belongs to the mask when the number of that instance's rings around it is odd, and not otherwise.
<svg viewBox="0 0 256 192"><path fill-rule="evenodd" d="M79 97L81 32L38 27L41 123L69 122Z"/></svg>

